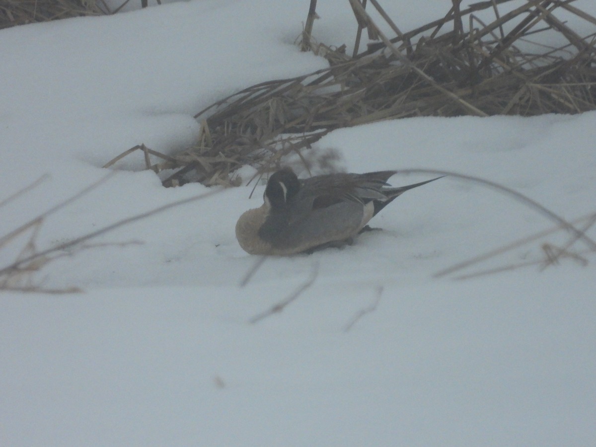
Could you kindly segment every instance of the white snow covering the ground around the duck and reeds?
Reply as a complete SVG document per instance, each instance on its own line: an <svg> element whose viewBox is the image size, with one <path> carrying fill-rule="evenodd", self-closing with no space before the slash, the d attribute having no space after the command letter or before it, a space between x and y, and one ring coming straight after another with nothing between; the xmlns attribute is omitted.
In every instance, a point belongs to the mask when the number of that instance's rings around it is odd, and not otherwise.
<svg viewBox="0 0 596 447"><path fill-rule="evenodd" d="M325 67L294 45L307 3L195 0L2 30L0 200L50 178L2 207L0 234L103 178L101 166L129 147L186 147L198 134L193 114L213 101ZM316 38L350 45L347 2L319 3ZM446 12L434 1L398 14L399 4L387 12L403 29ZM482 177L572 221L594 212L595 120L404 119L334 131L316 148L336 150L350 172ZM48 216L38 249L210 191L163 188L142 163L129 156ZM234 226L260 205L263 185L249 198L252 187L120 226L90 241L111 244L65 250L33 277L82 293L0 294L0 445L596 444L593 254L586 266L566 257L455 279L544 259L543 243L569 239L558 231L433 276L553 228L544 214L444 178L376 216L383 231L266 259L241 287L257 258ZM1 247L2 266L28 236ZM250 322L313 272L283 312Z"/></svg>

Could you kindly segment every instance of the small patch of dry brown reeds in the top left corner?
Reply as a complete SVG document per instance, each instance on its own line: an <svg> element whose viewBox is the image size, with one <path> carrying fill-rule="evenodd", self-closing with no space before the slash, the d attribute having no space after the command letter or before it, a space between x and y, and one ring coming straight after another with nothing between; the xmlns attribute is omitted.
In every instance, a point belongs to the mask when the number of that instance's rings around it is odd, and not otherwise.
<svg viewBox="0 0 596 447"><path fill-rule="evenodd" d="M0 0L0 29L108 11L103 0Z"/></svg>

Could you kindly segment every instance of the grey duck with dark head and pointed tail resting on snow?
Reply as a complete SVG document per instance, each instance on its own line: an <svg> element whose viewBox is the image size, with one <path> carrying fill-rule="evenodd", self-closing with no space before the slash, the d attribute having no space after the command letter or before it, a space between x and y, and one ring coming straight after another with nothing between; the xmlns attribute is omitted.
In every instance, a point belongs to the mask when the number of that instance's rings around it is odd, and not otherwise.
<svg viewBox="0 0 596 447"><path fill-rule="evenodd" d="M387 183L395 170L332 173L299 179L290 167L270 177L262 206L244 212L236 238L249 254L290 256L352 245L368 222L405 191L441 177L399 188Z"/></svg>

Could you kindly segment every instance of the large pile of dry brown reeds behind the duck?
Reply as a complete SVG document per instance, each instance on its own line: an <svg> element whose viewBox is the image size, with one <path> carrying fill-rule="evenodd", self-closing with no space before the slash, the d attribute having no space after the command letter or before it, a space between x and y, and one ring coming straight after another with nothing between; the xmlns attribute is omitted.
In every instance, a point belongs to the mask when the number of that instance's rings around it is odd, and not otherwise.
<svg viewBox="0 0 596 447"><path fill-rule="evenodd" d="M489 116L580 113L596 108L596 33L582 36L556 17L558 10L588 23L596 18L570 5L573 0L529 0L506 14L499 4L480 2L460 10L453 0L445 17L407 33L369 0L395 32L389 39L358 0L349 0L359 26L380 42L349 56L345 46L332 50L305 36L303 45L330 63L328 69L272 80L243 89L195 115L201 122L197 143L174 156L138 146L148 169L173 169L166 186L188 181L229 182L245 164L259 172L272 169L290 153L333 129L411 116ZM364 2L365 4L366 2ZM311 13L313 13L311 0ZM474 15L493 10L485 24ZM470 24L465 31L463 24ZM507 30L507 31L505 31ZM558 48L524 50L536 34L556 33ZM355 45L358 48L358 44ZM152 163L151 155L159 157Z"/></svg>

